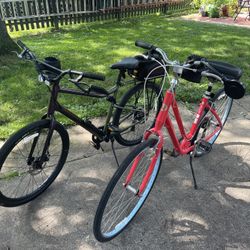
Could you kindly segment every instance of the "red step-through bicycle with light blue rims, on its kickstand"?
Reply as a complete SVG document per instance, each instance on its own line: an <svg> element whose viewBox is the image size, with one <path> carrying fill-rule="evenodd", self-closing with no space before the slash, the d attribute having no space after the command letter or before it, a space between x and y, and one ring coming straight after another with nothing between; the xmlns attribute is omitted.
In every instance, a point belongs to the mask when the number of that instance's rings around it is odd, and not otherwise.
<svg viewBox="0 0 250 250"><path fill-rule="evenodd" d="M202 156L211 151L230 113L233 99L244 96L244 85L239 81L242 70L233 65L209 61L192 55L185 64L170 61L166 53L151 44L137 41L136 45L147 49L147 58L157 61L166 76L173 68L173 79L166 91L155 126L144 134L139 144L123 161L104 191L94 220L94 235L99 241L108 241L121 233L132 221L148 197L160 170L166 127L173 144L172 155L190 154L194 187L197 188L192 167L192 157ZM145 56L145 55L144 55ZM209 80L191 128L186 132L175 99L179 78L200 82L202 77ZM165 77L166 78L166 77ZM216 82L223 88L213 93ZM178 138L170 116L173 111L181 137Z"/></svg>

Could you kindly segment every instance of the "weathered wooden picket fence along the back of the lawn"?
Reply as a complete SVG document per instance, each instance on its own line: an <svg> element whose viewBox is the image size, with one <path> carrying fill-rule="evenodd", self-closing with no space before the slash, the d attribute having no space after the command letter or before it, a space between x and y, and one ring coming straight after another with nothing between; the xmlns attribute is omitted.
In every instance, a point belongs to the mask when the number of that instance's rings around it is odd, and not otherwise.
<svg viewBox="0 0 250 250"><path fill-rule="evenodd" d="M190 8L190 0L0 0L0 17L10 31Z"/></svg>

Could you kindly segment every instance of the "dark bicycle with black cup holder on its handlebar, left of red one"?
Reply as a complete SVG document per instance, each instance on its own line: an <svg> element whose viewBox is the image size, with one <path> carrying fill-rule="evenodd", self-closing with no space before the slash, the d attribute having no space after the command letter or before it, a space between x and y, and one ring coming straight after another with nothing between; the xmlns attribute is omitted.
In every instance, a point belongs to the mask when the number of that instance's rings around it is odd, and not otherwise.
<svg viewBox="0 0 250 250"><path fill-rule="evenodd" d="M101 142L114 139L121 145L132 146L140 143L143 132L154 125L162 104L161 90L155 81L164 75L154 70L156 63L146 57L125 58L111 66L119 74L115 86L106 90L83 81L84 78L104 81L102 75L61 70L58 59L47 57L40 61L21 41L17 44L22 48L18 57L34 62L39 80L48 86L51 97L46 115L13 134L0 149L0 205L6 207L33 200L60 173L68 155L69 136L56 120L56 111L88 130L96 149ZM151 78L145 79L151 71L154 72ZM60 85L66 76L74 88ZM125 76L130 76L129 80L125 81ZM117 104L119 88L128 83L134 84ZM89 120L79 118L59 103L59 94L105 98L110 102L105 124L96 127Z"/></svg>

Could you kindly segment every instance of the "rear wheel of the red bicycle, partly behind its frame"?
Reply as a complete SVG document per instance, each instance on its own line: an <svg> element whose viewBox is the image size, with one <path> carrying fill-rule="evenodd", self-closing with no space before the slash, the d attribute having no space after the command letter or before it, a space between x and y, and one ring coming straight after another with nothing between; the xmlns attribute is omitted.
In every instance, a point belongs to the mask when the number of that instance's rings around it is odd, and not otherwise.
<svg viewBox="0 0 250 250"><path fill-rule="evenodd" d="M219 89L212 98L211 105L215 107L224 127L233 105L233 99L226 95L224 89ZM215 116L210 111L205 111L202 121L197 129L196 140L205 140L207 143L209 143L211 150L212 145L215 143L223 129L222 127L213 135L216 127L218 127L218 123ZM202 134L201 136L199 136L200 133ZM195 156L199 157L204 154L206 154L206 151L201 150L198 145Z"/></svg>

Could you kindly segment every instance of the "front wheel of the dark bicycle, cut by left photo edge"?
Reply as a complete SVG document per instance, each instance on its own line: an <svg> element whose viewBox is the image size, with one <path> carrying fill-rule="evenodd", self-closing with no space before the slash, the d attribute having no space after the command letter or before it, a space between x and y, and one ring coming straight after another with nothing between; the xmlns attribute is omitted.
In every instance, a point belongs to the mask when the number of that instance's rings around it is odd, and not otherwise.
<svg viewBox="0 0 250 250"><path fill-rule="evenodd" d="M54 124L46 159L41 162L39 158L50 124L50 120L31 123L17 131L2 146L0 205L15 207L35 199L60 173L69 150L68 132L60 123ZM32 145L34 151L29 157Z"/></svg>

